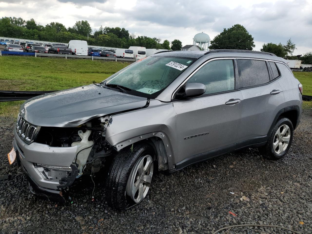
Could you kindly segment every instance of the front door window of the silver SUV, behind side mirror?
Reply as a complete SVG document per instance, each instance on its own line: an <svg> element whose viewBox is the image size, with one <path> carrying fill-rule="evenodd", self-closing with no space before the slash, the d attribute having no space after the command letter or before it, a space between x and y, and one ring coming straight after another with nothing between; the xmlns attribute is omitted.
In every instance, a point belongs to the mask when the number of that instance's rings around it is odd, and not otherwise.
<svg viewBox="0 0 312 234"><path fill-rule="evenodd" d="M232 59L208 62L199 69L188 83L202 83L206 86L204 94L212 94L235 89L235 75Z"/></svg>

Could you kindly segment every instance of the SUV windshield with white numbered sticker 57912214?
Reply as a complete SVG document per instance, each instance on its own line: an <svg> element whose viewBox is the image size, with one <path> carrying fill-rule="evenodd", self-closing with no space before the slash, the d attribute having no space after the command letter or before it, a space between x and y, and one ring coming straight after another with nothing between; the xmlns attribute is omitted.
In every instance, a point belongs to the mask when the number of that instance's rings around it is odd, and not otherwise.
<svg viewBox="0 0 312 234"><path fill-rule="evenodd" d="M106 85L121 85L129 94L154 98L185 71L194 58L149 56L111 76Z"/></svg>

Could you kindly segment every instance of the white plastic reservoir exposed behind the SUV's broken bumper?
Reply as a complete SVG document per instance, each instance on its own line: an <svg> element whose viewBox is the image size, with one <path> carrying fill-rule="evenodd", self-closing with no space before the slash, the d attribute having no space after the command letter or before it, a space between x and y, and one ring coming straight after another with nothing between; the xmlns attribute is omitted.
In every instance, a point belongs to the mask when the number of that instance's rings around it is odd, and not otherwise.
<svg viewBox="0 0 312 234"><path fill-rule="evenodd" d="M80 136L82 140L71 143L71 147L76 146L76 145L78 146L77 151L76 151L76 154L78 154L76 163L78 163L79 165L78 169L79 169L80 175L82 174L82 168L87 162L89 154L92 150L92 146L94 144L93 141L88 140L90 134L91 134L91 130L86 130L85 133L82 130L79 130L78 135Z"/></svg>

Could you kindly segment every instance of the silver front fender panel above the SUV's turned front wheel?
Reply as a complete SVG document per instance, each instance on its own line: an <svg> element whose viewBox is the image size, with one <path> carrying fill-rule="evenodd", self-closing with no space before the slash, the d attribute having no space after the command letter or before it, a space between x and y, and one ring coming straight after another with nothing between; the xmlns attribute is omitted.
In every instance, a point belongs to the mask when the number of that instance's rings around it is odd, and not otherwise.
<svg viewBox="0 0 312 234"><path fill-rule="evenodd" d="M106 128L106 141L120 151L144 139L160 139L165 148L169 169L174 168L176 144L176 113L172 103L151 100L148 107L119 113L112 116L110 126ZM155 144L153 140L151 143ZM157 145L155 145L157 148Z"/></svg>

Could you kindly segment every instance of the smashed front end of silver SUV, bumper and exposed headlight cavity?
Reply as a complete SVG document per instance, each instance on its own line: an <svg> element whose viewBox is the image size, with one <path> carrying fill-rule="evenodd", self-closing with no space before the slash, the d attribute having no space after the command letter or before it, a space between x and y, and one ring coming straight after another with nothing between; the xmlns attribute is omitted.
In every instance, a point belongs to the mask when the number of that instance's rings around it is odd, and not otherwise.
<svg viewBox="0 0 312 234"><path fill-rule="evenodd" d="M33 125L21 116L18 121L13 148L18 152L17 161L27 175L31 192L39 197L65 202L65 194L75 179L99 172L106 158L114 153L105 140L111 116L72 128L38 127L40 130L30 144L23 132L27 132L25 126Z"/></svg>

